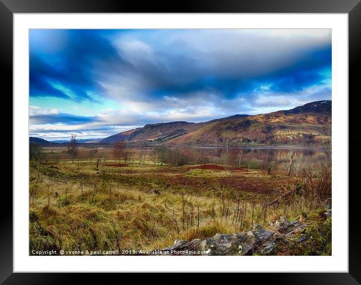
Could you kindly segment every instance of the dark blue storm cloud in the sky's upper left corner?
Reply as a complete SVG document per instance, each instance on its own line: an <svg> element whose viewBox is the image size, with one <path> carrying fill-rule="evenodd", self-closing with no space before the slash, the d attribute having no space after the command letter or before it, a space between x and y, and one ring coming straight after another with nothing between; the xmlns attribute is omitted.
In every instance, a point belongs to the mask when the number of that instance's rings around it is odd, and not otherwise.
<svg viewBox="0 0 361 285"><path fill-rule="evenodd" d="M59 46L51 44L54 40ZM78 102L94 100L88 92L105 96L99 81L126 63L94 30L31 30L29 53L30 96Z"/></svg>

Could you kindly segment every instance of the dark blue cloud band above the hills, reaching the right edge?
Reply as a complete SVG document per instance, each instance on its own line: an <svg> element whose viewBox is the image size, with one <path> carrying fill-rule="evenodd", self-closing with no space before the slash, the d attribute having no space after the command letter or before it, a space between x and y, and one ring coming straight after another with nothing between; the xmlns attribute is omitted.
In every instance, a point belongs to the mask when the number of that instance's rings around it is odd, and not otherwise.
<svg viewBox="0 0 361 285"><path fill-rule="evenodd" d="M277 92L294 92L319 84L324 76L321 72L331 68L331 47L321 46L317 50L303 50L303 55L291 65L275 68L269 73L249 75L245 73L243 64L237 61L221 64L222 70L207 70L198 67L192 60L182 58L167 58L167 62L177 65L177 69L166 69L162 65L146 66L138 70L152 99L165 95L191 97L195 92L216 93L220 98L232 99L247 94L263 84L272 84L271 90ZM210 59L212 60L212 59ZM250 62L254 70L262 70L263 62ZM187 74L184 74L187 70ZM254 94L257 96L257 94ZM149 98L149 97L148 97Z"/></svg>

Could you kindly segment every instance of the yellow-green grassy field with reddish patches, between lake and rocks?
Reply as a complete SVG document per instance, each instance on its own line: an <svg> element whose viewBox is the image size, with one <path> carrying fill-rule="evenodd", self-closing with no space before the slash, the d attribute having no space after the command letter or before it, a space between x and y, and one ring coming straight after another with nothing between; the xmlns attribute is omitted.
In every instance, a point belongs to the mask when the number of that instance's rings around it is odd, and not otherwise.
<svg viewBox="0 0 361 285"><path fill-rule="evenodd" d="M62 149L46 151L51 160L30 162L30 254L154 250L175 239L244 232L255 223L297 218L331 202L325 165L305 166L298 176L282 168L268 175L247 166L226 173L220 164L173 167L134 157L120 164L109 158L97 162L86 158L85 150L72 163ZM99 150L97 155L103 152L109 154ZM59 153L64 156L56 159ZM271 203L274 199L279 200Z"/></svg>

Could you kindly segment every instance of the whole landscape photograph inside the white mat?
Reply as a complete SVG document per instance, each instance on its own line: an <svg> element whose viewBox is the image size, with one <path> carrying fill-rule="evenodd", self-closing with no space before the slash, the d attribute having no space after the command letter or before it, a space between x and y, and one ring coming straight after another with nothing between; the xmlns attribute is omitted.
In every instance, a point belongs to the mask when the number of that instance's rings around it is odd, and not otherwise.
<svg viewBox="0 0 361 285"><path fill-rule="evenodd" d="M29 255L332 255L331 36L30 29Z"/></svg>

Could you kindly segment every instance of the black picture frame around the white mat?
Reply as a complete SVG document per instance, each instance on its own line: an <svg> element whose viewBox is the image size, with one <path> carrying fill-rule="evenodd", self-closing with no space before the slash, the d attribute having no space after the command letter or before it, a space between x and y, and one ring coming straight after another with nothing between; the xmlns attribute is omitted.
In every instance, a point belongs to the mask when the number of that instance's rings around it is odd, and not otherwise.
<svg viewBox="0 0 361 285"><path fill-rule="evenodd" d="M0 0L0 69L2 71L3 94L13 94L13 14L14 13L346 13L349 28L349 94L360 94L358 70L361 61L361 0L194 0L192 2L142 2L123 0ZM357 69L356 69L357 68ZM346 94L344 96L347 96ZM12 104L12 102L9 102ZM351 105L349 105L351 107ZM353 106L357 108L357 106ZM349 130L351 115L356 114L349 109ZM357 126L356 126L357 128ZM345 138L349 149L356 147L357 141ZM13 152L16 150L13 149ZM348 167L349 177L357 177L356 171ZM13 171L16 171L14 169ZM353 175L352 175L353 174ZM9 188L9 187L8 187ZM349 187L351 188L351 187ZM251 273L258 276L257 282L264 279L267 283L286 284L359 284L361 282L361 241L358 227L359 187L349 191L349 272L348 273ZM61 284L66 281L95 281L94 274L77 273L13 273L13 206L10 190L3 188L2 215L0 219L0 282L4 284ZM348 189L338 189L347 191ZM7 192L7 193L4 193ZM8 197L7 197L8 195ZM280 271L282 268L280 268ZM39 268L41 271L41 268ZM161 271L161 268L160 268ZM163 273L164 274L164 273ZM96 274L97 275L97 274ZM202 277L213 278L213 274ZM243 276L250 276L243 275ZM104 274L102 277L104 278ZM124 277L122 277L124 278ZM146 281L146 276L138 275L138 280ZM154 278L154 277L152 277ZM187 276L160 277L160 280L185 282ZM192 277L193 278L193 277ZM244 277L238 277L244 278ZM104 279L103 279L104 281ZM120 279L119 279L120 281Z"/></svg>

